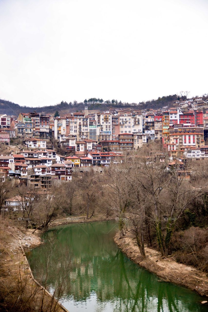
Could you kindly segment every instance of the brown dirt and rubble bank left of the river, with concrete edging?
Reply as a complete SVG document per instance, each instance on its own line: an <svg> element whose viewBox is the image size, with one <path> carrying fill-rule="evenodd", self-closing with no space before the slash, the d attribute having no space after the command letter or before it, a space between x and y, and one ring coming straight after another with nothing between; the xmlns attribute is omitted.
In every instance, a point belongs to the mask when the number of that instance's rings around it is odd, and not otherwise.
<svg viewBox="0 0 208 312"><path fill-rule="evenodd" d="M43 302L43 311L50 311L51 307L57 305L57 312L66 312L31 274L21 245L26 250L41 244L41 231L32 232L31 229L25 231L15 226L2 226L0 230L0 295L2 299L7 298L0 302L0 310L10 311L13 305L18 309L18 304L25 306L28 311L39 310Z"/></svg>

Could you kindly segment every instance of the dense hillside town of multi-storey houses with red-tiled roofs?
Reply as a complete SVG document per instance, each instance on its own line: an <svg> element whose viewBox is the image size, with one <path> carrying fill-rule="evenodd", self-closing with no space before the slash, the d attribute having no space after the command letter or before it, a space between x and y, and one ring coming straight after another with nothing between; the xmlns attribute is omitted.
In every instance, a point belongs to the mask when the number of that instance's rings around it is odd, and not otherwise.
<svg viewBox="0 0 208 312"><path fill-rule="evenodd" d="M2 177L34 188L71 181L72 172L109 167L123 153L149 142L161 143L171 161L208 158L208 99L178 100L161 110L89 111L54 117L50 114L0 115L1 146L21 141L20 150L0 155ZM62 151L62 154L56 149ZM100 169L102 172L102 169Z"/></svg>

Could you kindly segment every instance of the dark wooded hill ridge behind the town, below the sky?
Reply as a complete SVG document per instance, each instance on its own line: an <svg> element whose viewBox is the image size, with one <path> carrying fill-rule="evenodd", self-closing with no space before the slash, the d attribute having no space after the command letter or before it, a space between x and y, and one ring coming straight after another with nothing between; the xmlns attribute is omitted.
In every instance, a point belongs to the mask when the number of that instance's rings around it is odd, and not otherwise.
<svg viewBox="0 0 208 312"><path fill-rule="evenodd" d="M102 99L91 98L89 100L85 100L84 102L76 102L67 103L61 101L57 105L50 105L50 106L43 106L43 107L28 107L28 106L21 106L19 104L15 104L10 101L1 100L0 99L0 114L7 114L7 115L16 115L18 116L19 113L28 113L33 112L34 110L39 113L45 114L54 114L56 110L58 110L60 115L68 114L70 112L76 111L84 111L85 105L88 106L89 110L109 110L110 108L121 108L121 107L132 107L132 108L139 108L139 109L159 109L163 106L171 106L172 102L179 99L178 95L167 95L159 97L157 100L150 100L147 102L139 102L139 103L123 103L118 102L117 100L107 100L103 101Z"/></svg>

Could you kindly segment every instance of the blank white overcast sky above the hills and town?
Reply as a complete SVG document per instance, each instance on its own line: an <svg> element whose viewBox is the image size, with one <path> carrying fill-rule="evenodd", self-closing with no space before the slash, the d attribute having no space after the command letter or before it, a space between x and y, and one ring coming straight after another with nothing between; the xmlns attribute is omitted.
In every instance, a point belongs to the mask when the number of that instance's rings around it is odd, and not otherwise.
<svg viewBox="0 0 208 312"><path fill-rule="evenodd" d="M0 0L0 98L208 93L208 0Z"/></svg>

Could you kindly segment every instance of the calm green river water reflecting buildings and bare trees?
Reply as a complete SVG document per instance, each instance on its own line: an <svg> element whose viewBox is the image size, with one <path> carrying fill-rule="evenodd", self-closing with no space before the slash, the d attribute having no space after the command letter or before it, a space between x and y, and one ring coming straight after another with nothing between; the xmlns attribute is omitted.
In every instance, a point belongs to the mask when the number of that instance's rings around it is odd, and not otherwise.
<svg viewBox="0 0 208 312"><path fill-rule="evenodd" d="M67 268L62 304L75 311L207 311L202 297L158 277L129 260L114 243L116 222L70 224L47 231L42 244L27 252L36 278L46 277L51 292ZM65 273L66 274L66 273ZM204 299L205 300L205 299Z"/></svg>

